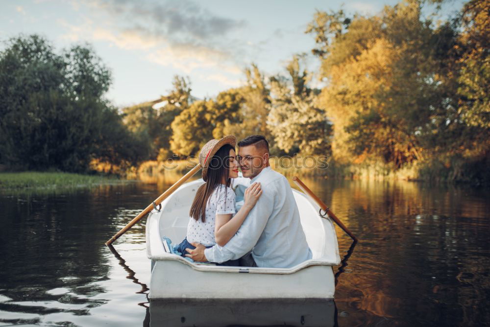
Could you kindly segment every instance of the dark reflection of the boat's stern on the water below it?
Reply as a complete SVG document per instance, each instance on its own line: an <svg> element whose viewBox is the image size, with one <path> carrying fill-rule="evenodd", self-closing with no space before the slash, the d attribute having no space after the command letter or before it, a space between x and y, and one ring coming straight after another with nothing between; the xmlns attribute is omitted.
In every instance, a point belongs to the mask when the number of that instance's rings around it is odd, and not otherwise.
<svg viewBox="0 0 490 327"><path fill-rule="evenodd" d="M330 300L182 300L151 301L149 326L336 326Z"/></svg>

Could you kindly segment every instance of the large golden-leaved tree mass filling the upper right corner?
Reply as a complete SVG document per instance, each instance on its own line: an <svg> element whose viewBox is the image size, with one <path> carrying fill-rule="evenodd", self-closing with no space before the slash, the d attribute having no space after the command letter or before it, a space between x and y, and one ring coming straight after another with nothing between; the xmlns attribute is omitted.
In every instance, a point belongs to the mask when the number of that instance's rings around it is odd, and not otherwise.
<svg viewBox="0 0 490 327"><path fill-rule="evenodd" d="M466 163L488 157L489 1L470 1L438 26L423 5L402 1L351 18L317 12L308 26L338 162L397 169L440 160L458 179Z"/></svg>

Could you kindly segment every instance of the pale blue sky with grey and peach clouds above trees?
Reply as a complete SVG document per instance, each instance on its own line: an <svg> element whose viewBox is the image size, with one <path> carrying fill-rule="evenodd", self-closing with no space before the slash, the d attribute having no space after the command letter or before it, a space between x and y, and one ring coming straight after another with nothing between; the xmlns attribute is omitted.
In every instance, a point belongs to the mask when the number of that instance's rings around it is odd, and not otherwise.
<svg viewBox="0 0 490 327"><path fill-rule="evenodd" d="M155 100L188 76L192 94L212 97L243 85L256 63L284 73L297 53L311 53L305 34L315 11L376 14L396 0L0 0L0 49L23 33L40 34L58 50L89 43L112 71L106 97L117 106ZM462 7L448 0L443 12ZM308 56L310 70L319 61Z"/></svg>

